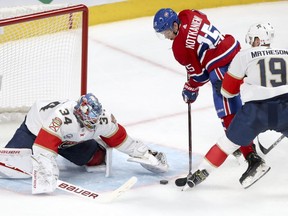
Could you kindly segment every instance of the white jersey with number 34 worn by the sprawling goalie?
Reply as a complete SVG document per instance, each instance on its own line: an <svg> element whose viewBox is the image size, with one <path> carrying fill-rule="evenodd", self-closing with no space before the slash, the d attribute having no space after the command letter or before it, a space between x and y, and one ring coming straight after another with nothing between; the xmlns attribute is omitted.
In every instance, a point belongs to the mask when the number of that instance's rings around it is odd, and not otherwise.
<svg viewBox="0 0 288 216"><path fill-rule="evenodd" d="M35 102L26 117L27 128L37 136L35 143L58 153L60 147L80 144L89 139L102 137L109 142L109 138L117 134L119 125L113 115L105 110L99 117L95 130L81 126L73 114L75 105L76 101L69 100ZM123 130L121 137L123 133L124 137L126 135Z"/></svg>

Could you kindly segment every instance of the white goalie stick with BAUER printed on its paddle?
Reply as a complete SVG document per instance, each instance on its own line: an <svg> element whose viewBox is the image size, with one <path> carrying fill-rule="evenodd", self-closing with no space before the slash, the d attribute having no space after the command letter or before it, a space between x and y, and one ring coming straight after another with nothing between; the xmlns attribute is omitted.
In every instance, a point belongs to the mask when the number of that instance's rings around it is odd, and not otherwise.
<svg viewBox="0 0 288 216"><path fill-rule="evenodd" d="M32 174L29 172L25 172L24 170L21 170L17 167L7 165L3 162L0 162L0 166L3 166L3 167L6 167L8 169L32 176ZM137 182L137 177L133 176L128 181L126 181L122 186L117 188L116 190L114 190L112 192L103 193L103 194L96 193L96 192L89 190L87 188L82 188L82 187L73 185L71 183L62 181L62 180L57 180L57 186L56 187L59 190L65 191L67 193L75 194L75 195L83 197L87 200L88 199L89 200L96 200L99 202L105 202L106 203L106 202L112 202L117 197L119 197L121 194L128 191L131 187L133 187L136 184L136 182Z"/></svg>

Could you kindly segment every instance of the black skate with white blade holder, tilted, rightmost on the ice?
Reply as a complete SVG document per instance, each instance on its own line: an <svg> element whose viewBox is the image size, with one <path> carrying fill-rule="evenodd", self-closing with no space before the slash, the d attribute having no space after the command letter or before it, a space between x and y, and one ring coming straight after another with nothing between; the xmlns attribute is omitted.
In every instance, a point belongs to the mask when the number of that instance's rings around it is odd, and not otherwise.
<svg viewBox="0 0 288 216"><path fill-rule="evenodd" d="M270 170L265 161L254 152L247 156L247 162L248 168L239 179L245 189L253 185Z"/></svg>

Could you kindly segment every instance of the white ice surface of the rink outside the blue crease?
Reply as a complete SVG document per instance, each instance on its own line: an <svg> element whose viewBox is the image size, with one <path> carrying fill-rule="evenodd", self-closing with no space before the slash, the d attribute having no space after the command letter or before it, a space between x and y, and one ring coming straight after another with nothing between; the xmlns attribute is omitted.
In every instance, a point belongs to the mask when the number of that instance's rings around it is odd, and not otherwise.
<svg viewBox="0 0 288 216"><path fill-rule="evenodd" d="M287 1L202 11L223 33L234 35L243 48L247 47L244 37L248 27L258 21L274 25L273 46L288 48ZM152 20L153 17L146 17L90 28L88 91L99 97L131 136L155 144L154 148L183 152L182 158L173 158L170 153L168 162L173 161L170 166L175 167L176 163L186 161L178 170L180 176L185 176L188 172L188 119L181 90L186 72L173 58L171 41L159 40L155 35ZM8 129L0 132L2 137L13 134L15 126ZM223 133L213 108L211 86L206 84L192 104L193 156L202 157ZM266 147L279 137L276 133L267 134L263 135ZM267 155L257 150L272 169L248 189L243 189L238 181L247 165L243 160L239 164L232 156L193 190L181 191L174 184L178 176L174 176L168 179L168 185L160 185L158 181L145 186L136 184L110 204L65 193L41 196L17 193L7 190L0 180L1 215L287 215L287 140ZM199 161L194 162L193 170ZM120 181L128 177L114 176ZM141 175L138 178L141 181Z"/></svg>

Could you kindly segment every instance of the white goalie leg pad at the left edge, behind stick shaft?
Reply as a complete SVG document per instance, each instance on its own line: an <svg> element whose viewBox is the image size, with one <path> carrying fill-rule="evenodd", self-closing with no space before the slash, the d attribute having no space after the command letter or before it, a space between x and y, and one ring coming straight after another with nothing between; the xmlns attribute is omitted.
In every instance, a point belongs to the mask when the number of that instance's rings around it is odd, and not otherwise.
<svg viewBox="0 0 288 216"><path fill-rule="evenodd" d="M0 148L0 163L5 164L5 166L0 166L0 178L31 178L28 174L32 172L31 155L31 149ZM27 173L13 169L15 167Z"/></svg>

